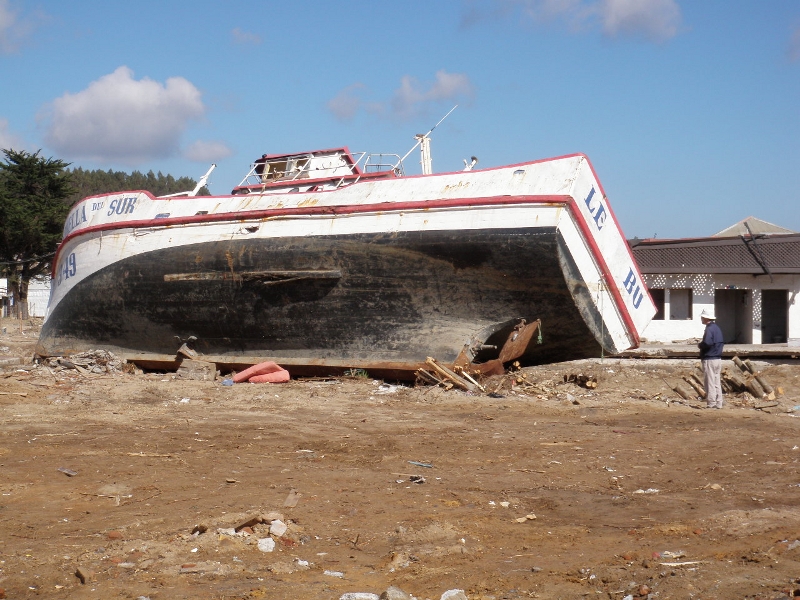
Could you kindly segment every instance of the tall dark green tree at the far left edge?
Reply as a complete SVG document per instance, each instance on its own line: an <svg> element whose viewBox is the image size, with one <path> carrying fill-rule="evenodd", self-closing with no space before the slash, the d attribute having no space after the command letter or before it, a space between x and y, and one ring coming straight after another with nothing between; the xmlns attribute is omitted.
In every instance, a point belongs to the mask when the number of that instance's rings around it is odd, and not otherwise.
<svg viewBox="0 0 800 600"><path fill-rule="evenodd" d="M41 150L3 150L0 162L0 276L8 279L15 313L28 318L28 283L45 275L61 241L73 193L69 166ZM19 311L19 312L17 312Z"/></svg>

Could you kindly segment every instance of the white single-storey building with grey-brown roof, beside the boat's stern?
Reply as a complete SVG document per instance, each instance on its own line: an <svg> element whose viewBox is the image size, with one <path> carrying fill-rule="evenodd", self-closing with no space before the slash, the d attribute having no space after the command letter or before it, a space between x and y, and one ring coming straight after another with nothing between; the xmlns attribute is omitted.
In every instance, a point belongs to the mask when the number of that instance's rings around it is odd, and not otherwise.
<svg viewBox="0 0 800 600"><path fill-rule="evenodd" d="M748 217L708 238L630 245L658 307L646 341L700 337L712 308L727 344L800 346L800 234Z"/></svg>

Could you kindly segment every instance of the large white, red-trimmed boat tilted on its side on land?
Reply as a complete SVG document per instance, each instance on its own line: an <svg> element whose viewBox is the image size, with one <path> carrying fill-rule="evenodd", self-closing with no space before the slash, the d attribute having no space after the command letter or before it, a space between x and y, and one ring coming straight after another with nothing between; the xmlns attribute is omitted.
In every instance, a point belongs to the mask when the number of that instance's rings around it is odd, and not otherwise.
<svg viewBox="0 0 800 600"><path fill-rule="evenodd" d="M225 196L86 198L37 353L149 365L189 342L220 365L391 372L637 346L655 308L587 157L474 164L265 154Z"/></svg>

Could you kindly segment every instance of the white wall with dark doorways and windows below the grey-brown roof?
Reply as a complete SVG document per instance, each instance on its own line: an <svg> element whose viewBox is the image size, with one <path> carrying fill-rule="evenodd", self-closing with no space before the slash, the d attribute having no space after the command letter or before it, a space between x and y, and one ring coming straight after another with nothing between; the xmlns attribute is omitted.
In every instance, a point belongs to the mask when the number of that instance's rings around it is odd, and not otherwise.
<svg viewBox="0 0 800 600"><path fill-rule="evenodd" d="M696 275L644 275L645 283L650 289L664 289L664 320L651 321L643 332L648 342L682 342L699 338L703 335L703 324L700 313L705 308L714 309L716 290L740 290L736 294L741 297L740 307L743 316L740 327L744 329L745 341L740 343L772 343L774 340L762 339L762 290L788 290L787 307L787 340L789 345L800 346L800 275L729 275L729 274L696 274ZM691 315L685 314L685 299L691 290ZM676 302L672 302L673 295ZM728 296L731 296L728 294ZM732 296L731 296L732 297ZM726 307L719 307L726 310ZM718 311L720 313L720 311ZM717 314L717 321L723 331L730 323L722 321L722 313Z"/></svg>

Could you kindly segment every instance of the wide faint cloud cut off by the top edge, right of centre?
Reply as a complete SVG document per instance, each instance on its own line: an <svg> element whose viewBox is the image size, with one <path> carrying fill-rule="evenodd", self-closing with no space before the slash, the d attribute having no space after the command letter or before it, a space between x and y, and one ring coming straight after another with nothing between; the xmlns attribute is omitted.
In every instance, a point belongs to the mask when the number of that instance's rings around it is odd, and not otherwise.
<svg viewBox="0 0 800 600"><path fill-rule="evenodd" d="M483 9L473 1L464 26L484 19L513 18L519 11L534 23L561 21L573 32L599 29L608 37L640 37L663 42L677 35L681 10L676 0L497 0Z"/></svg>

